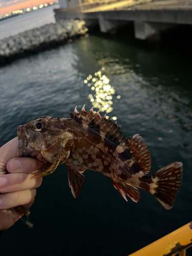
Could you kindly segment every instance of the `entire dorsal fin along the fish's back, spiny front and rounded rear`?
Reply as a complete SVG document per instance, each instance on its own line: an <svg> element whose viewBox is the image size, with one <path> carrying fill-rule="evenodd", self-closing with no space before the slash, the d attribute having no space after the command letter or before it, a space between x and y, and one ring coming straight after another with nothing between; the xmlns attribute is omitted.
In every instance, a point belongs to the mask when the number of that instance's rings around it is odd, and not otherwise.
<svg viewBox="0 0 192 256"><path fill-rule="evenodd" d="M120 126L117 126L117 122L113 123L112 119L107 120L105 115L101 117L99 112L94 113L93 108L88 113L84 109L84 106L80 113L75 108L74 114L70 113L70 116L77 122L84 123L94 131L102 133L105 136L105 141L111 142L114 148L119 146L118 153L124 158L123 161L130 160L131 153L131 158L137 163L139 169L144 174L150 172L151 156L141 136L136 134L126 140L125 137L122 136Z"/></svg>

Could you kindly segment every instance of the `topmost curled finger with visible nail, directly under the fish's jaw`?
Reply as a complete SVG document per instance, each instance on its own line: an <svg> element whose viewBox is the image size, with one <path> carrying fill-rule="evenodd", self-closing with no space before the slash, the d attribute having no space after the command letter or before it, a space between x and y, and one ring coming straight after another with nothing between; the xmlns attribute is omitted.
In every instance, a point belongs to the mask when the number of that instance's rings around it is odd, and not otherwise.
<svg viewBox="0 0 192 256"><path fill-rule="evenodd" d="M42 162L35 158L18 157L12 158L7 162L6 168L9 173L26 173L30 174L33 170L41 165Z"/></svg>

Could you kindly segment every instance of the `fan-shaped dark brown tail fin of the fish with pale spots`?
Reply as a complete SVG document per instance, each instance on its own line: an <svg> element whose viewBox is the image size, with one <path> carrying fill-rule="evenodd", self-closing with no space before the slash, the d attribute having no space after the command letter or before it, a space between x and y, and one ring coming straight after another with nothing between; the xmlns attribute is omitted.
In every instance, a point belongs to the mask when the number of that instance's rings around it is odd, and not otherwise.
<svg viewBox="0 0 192 256"><path fill-rule="evenodd" d="M152 175L150 193L167 210L173 207L175 196L179 191L182 178L182 165L180 162L171 163Z"/></svg>

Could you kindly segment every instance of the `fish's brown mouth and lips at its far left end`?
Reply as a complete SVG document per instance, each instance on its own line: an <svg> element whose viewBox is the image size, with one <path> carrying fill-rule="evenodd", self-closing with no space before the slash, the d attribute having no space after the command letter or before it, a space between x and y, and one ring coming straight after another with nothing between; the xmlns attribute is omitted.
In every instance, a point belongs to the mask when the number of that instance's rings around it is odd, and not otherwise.
<svg viewBox="0 0 192 256"><path fill-rule="evenodd" d="M18 148L23 151L23 156L35 157L39 154L39 150L31 150L25 130L25 125L19 125L17 128Z"/></svg>

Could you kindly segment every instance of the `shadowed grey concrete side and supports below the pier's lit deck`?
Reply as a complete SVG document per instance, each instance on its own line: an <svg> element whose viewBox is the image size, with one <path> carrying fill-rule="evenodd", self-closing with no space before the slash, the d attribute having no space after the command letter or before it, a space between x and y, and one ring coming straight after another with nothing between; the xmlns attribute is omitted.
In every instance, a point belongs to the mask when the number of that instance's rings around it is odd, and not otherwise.
<svg viewBox="0 0 192 256"><path fill-rule="evenodd" d="M141 40L147 38L160 40L160 32L174 27L177 24L192 25L191 9L174 10L118 10L70 13L64 9L55 10L55 18L79 18L86 22L86 26L99 23L103 33L114 32L117 27L127 22L134 22L135 37Z"/></svg>

